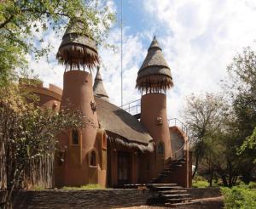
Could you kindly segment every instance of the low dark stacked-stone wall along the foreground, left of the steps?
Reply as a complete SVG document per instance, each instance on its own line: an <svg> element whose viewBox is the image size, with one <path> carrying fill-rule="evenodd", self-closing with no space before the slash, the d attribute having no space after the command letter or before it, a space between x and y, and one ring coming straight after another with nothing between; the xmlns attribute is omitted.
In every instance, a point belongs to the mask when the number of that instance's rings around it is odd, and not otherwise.
<svg viewBox="0 0 256 209"><path fill-rule="evenodd" d="M113 208L147 205L151 195L148 189L17 191L13 203L15 209Z"/></svg>

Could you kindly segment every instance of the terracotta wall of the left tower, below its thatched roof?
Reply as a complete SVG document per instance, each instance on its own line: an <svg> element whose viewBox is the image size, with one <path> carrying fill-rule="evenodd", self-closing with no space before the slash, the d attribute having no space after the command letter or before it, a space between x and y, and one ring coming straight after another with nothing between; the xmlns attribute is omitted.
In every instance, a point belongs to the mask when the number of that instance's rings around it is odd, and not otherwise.
<svg viewBox="0 0 256 209"><path fill-rule="evenodd" d="M79 186L84 184L106 185L106 169L102 163L102 138L96 138L98 121L93 110L91 74L85 71L67 71L64 73L61 108L81 110L90 120L90 124L79 130L79 144L72 143L72 130L60 136L60 146L66 158L61 167L55 167L57 186ZM87 119L84 119L88 123ZM96 153L96 167L90 166L90 154ZM62 180L62 182L58 181Z"/></svg>

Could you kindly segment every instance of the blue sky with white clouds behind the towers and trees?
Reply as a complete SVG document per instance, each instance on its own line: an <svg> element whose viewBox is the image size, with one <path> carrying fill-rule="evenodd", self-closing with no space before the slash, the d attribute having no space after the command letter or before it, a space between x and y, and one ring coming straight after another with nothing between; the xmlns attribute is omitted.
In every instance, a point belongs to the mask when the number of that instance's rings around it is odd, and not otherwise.
<svg viewBox="0 0 256 209"><path fill-rule="evenodd" d="M111 103L121 104L120 0L109 0L117 14L108 37L116 50L99 48L101 73ZM191 93L218 93L226 67L242 48L256 48L255 0L123 0L123 104L140 99L135 88L137 71L156 36L171 68L174 87L167 92L168 118L181 118ZM64 66L55 54L61 37L44 35L53 49L49 59L30 65L44 81L62 88ZM94 73L95 76L95 73Z"/></svg>

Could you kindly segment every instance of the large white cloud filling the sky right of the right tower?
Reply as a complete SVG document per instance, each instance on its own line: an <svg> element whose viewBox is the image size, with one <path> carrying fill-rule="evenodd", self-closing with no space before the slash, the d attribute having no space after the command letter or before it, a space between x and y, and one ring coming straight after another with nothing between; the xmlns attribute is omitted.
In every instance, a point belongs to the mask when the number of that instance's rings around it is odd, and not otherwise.
<svg viewBox="0 0 256 209"><path fill-rule="evenodd" d="M179 117L190 93L218 92L226 65L256 34L255 1L145 0L144 8L158 30L175 87L168 93L168 116ZM154 24L155 25L155 24ZM156 30L157 31L157 30Z"/></svg>

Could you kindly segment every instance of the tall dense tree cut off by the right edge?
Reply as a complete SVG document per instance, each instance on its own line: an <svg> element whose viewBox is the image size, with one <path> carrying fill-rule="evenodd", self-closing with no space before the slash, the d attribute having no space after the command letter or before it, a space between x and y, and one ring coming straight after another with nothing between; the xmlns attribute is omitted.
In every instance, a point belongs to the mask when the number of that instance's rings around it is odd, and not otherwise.
<svg viewBox="0 0 256 209"><path fill-rule="evenodd" d="M230 101L234 110L234 127L237 127L236 140L240 143L239 154L247 160L241 175L243 181L251 180L255 169L256 147L256 53L252 48L244 48L237 54L228 67L230 82L226 85L230 93ZM230 84L230 85L229 85Z"/></svg>

